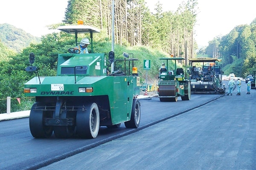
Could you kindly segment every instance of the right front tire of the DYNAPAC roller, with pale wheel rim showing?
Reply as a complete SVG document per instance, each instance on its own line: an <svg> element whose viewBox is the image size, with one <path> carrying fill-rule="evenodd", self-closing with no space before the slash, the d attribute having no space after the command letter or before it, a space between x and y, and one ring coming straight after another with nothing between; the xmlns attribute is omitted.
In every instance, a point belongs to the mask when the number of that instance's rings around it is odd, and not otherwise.
<svg viewBox="0 0 256 170"><path fill-rule="evenodd" d="M79 107L76 113L76 131L81 138L96 138L99 133L99 108L96 103Z"/></svg>

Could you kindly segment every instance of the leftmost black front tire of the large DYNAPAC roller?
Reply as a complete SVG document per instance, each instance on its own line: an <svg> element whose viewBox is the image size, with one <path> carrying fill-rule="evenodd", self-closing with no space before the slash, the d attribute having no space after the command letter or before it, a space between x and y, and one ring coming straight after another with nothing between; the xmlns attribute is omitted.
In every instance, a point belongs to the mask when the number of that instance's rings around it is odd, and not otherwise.
<svg viewBox="0 0 256 170"><path fill-rule="evenodd" d="M44 103L35 103L30 111L29 128L35 138L49 138L52 135L52 126L44 125L44 119L52 118L53 112L44 110L45 106Z"/></svg>

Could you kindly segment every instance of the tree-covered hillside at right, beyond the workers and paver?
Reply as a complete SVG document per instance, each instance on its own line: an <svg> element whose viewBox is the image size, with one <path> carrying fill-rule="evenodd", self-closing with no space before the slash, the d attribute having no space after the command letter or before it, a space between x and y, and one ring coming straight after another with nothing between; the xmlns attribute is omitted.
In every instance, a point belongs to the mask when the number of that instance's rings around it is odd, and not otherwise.
<svg viewBox="0 0 256 170"><path fill-rule="evenodd" d="M256 19L250 25L236 26L229 34L215 37L198 55L222 59L224 74L253 75L256 71Z"/></svg>

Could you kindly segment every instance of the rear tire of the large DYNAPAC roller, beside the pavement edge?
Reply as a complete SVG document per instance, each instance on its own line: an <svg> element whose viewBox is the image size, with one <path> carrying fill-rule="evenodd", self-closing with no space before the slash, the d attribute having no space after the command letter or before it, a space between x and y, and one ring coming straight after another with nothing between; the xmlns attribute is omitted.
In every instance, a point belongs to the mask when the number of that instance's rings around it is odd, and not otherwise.
<svg viewBox="0 0 256 170"><path fill-rule="evenodd" d="M137 128L140 125L140 102L138 99L133 99L131 109L131 119L125 122L126 128Z"/></svg>

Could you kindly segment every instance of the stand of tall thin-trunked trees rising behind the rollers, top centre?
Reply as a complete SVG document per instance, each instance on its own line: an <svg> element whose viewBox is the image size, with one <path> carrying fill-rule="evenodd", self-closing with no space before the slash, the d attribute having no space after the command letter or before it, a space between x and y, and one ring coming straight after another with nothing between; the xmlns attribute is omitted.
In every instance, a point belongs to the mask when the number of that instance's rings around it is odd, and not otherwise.
<svg viewBox="0 0 256 170"><path fill-rule="evenodd" d="M69 0L63 20L101 28L111 40L112 0ZM197 0L180 4L177 11L163 12L162 4L151 13L145 0L114 0L115 43L126 46L151 46L175 57L185 57L185 65L194 55L193 27L196 22Z"/></svg>

